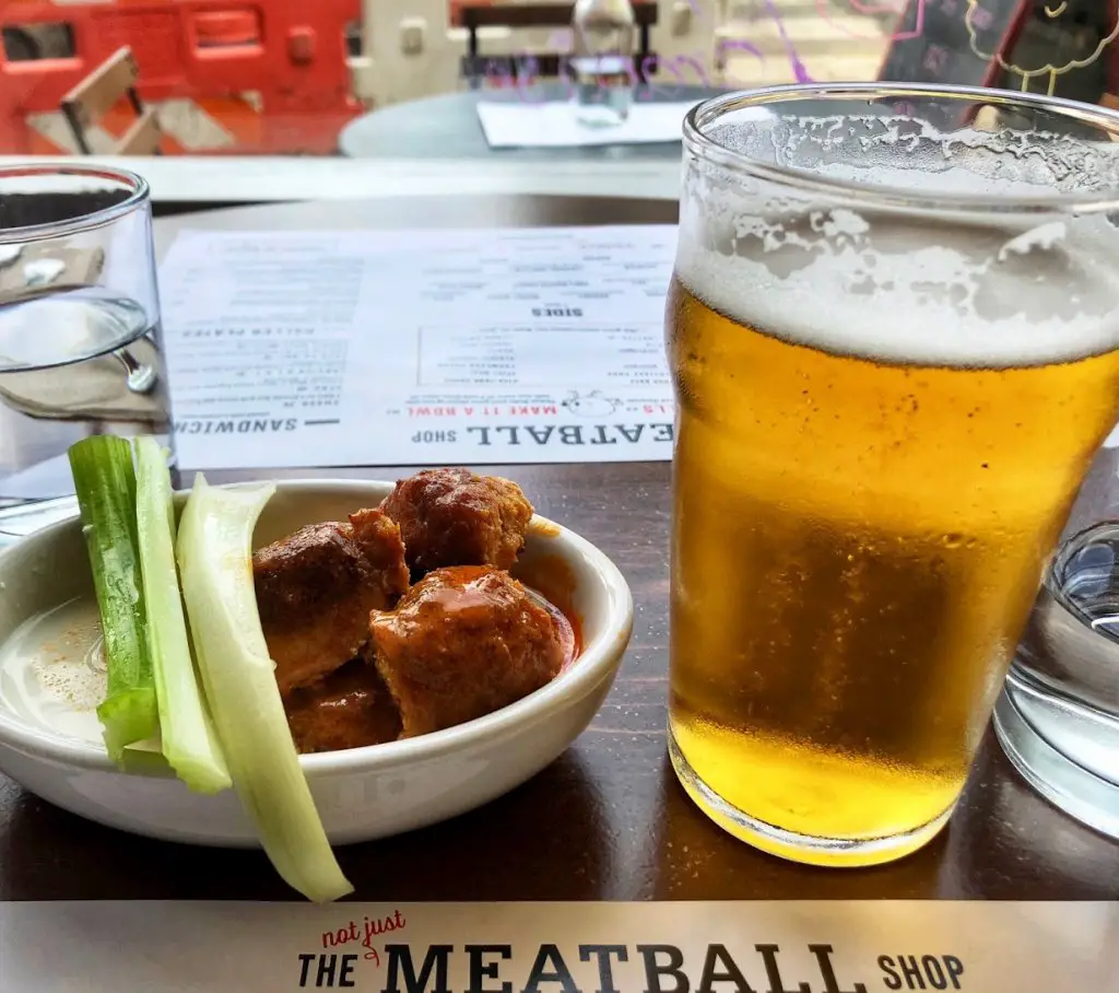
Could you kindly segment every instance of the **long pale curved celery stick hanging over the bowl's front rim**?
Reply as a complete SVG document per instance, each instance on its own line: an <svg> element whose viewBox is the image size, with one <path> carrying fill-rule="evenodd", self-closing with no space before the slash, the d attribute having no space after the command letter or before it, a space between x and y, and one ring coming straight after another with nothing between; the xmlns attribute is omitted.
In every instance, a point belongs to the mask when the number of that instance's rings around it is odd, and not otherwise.
<svg viewBox="0 0 1119 993"><path fill-rule="evenodd" d="M206 700L245 812L293 889L344 897L342 875L299 765L253 587L252 537L271 483L222 488L201 474L179 521L176 552Z"/></svg>

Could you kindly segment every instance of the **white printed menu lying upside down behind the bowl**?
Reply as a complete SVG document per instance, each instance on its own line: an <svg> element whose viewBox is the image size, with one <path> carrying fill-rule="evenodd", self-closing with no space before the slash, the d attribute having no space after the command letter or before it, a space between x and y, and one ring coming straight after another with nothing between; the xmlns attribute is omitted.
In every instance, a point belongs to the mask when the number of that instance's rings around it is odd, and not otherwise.
<svg viewBox="0 0 1119 993"><path fill-rule="evenodd" d="M160 271L186 468L671 457L674 226L185 232Z"/></svg>

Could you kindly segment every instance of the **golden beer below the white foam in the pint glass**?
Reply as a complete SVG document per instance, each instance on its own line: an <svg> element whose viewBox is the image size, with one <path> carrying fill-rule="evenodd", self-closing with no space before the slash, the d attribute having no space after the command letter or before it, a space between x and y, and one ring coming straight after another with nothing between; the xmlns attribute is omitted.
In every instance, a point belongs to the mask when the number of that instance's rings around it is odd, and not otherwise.
<svg viewBox="0 0 1119 993"><path fill-rule="evenodd" d="M696 289L675 280L667 318L675 747L722 803L826 840L808 861L868 864L874 840L908 839L896 858L960 793L1116 422L1119 352L887 363L783 340ZM683 778L733 833L806 858Z"/></svg>

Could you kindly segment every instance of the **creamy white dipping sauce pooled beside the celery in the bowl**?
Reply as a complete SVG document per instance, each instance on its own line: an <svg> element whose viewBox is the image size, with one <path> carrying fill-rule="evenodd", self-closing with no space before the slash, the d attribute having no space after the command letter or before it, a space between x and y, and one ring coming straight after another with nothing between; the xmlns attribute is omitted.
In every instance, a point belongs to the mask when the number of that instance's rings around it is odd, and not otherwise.
<svg viewBox="0 0 1119 993"><path fill-rule="evenodd" d="M38 728L103 743L97 706L107 684L93 597L36 615L0 646L0 706Z"/></svg>

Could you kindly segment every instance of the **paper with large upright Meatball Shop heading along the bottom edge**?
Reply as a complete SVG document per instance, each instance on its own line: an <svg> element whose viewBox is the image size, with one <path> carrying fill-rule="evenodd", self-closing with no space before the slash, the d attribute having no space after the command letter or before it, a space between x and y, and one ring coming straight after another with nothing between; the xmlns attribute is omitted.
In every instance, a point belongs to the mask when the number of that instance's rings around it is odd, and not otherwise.
<svg viewBox="0 0 1119 993"><path fill-rule="evenodd" d="M4 993L1104 993L1115 929L1055 901L9 902L0 956Z"/></svg>

